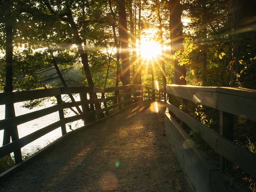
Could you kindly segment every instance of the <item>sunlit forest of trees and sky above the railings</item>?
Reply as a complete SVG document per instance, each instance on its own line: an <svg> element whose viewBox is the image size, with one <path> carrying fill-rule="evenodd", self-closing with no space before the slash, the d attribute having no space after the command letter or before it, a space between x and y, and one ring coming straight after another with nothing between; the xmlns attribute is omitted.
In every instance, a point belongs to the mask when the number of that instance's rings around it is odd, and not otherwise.
<svg viewBox="0 0 256 192"><path fill-rule="evenodd" d="M0 90L256 88L255 0L0 0Z"/></svg>

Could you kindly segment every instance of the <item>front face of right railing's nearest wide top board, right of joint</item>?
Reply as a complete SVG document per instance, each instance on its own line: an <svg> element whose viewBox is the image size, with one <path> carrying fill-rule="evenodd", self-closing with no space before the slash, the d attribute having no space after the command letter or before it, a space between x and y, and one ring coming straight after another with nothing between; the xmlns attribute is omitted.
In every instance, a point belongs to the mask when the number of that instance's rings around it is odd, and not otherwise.
<svg viewBox="0 0 256 192"><path fill-rule="evenodd" d="M256 99L217 93L216 109L256 121Z"/></svg>

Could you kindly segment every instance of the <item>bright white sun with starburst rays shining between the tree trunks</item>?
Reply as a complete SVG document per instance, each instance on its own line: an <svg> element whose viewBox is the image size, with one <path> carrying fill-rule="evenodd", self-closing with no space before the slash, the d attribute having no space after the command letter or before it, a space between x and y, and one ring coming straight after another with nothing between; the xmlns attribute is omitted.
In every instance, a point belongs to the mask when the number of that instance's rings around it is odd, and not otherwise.
<svg viewBox="0 0 256 192"><path fill-rule="evenodd" d="M157 55L161 55L161 45L153 38L141 38L141 57L144 59L152 59Z"/></svg>

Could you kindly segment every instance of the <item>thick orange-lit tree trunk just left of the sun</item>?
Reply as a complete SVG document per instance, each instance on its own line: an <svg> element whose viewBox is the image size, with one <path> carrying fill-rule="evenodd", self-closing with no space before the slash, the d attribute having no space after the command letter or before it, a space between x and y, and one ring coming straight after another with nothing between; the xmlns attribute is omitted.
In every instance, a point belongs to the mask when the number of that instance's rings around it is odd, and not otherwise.
<svg viewBox="0 0 256 192"><path fill-rule="evenodd" d="M130 84L130 59L128 46L128 29L126 20L125 1L118 0L119 11L119 38L121 43L121 60L122 60L122 75L124 77L123 85Z"/></svg>

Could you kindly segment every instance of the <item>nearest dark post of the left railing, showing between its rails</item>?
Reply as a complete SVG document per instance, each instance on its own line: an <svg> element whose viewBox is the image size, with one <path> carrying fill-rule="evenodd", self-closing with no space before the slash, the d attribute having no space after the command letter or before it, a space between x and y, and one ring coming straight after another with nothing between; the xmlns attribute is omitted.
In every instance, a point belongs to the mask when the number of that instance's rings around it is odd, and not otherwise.
<svg viewBox="0 0 256 192"><path fill-rule="evenodd" d="M7 119L7 118L12 118L12 117L15 117L14 104L13 103L6 104L5 105L5 118ZM11 137L12 137L12 142L19 139L17 126L10 127L10 128L8 128L8 130L4 129L3 145L10 143ZM14 160L15 160L15 164L22 162L22 154L21 154L20 149L14 151Z"/></svg>

